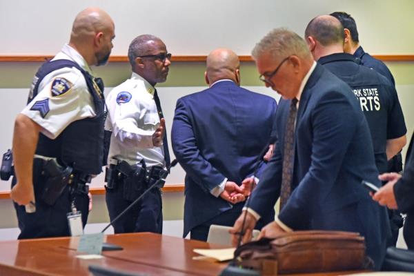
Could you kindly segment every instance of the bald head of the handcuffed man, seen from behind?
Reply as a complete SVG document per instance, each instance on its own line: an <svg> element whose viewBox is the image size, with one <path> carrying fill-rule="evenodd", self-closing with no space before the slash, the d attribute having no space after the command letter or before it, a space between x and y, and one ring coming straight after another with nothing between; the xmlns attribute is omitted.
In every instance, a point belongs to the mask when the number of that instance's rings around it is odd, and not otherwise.
<svg viewBox="0 0 414 276"><path fill-rule="evenodd" d="M232 50L224 48L213 50L208 55L206 63L206 81L208 84L220 79L231 79L240 84L240 61Z"/></svg>

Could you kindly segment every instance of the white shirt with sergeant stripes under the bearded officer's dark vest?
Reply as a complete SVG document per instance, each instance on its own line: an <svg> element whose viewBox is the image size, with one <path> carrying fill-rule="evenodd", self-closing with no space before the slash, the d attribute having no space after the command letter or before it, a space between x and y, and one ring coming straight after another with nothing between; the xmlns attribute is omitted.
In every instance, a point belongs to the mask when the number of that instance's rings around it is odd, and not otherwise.
<svg viewBox="0 0 414 276"><path fill-rule="evenodd" d="M81 68L91 72L85 59L68 44L63 46L61 52L52 60L57 59L75 61ZM66 83L64 89L66 92L54 96L52 90L58 87L54 88L52 85L56 84L57 79ZM39 108L34 108L36 105L40 106L43 112L39 111ZM85 78L75 67L61 68L46 75L39 83L37 96L21 113L39 124L43 135L50 139L55 139L73 121L96 115L92 95L90 95Z"/></svg>

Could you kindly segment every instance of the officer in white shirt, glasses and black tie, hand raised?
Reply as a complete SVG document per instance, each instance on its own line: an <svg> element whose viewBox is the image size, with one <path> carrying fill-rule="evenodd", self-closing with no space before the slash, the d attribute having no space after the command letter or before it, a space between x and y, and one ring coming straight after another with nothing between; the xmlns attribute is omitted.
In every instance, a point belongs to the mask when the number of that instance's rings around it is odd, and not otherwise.
<svg viewBox="0 0 414 276"><path fill-rule="evenodd" d="M106 99L106 128L112 130L106 177L111 220L154 184L170 164L155 85L166 81L171 54L161 39L144 34L130 43L128 58L132 76L113 88ZM162 233L162 185L152 188L113 224L115 233Z"/></svg>

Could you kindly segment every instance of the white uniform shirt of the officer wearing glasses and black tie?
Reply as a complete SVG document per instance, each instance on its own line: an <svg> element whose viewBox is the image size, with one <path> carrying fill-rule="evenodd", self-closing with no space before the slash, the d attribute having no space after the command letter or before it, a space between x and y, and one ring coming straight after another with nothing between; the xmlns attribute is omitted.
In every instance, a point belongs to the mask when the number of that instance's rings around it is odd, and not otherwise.
<svg viewBox="0 0 414 276"><path fill-rule="evenodd" d="M152 134L159 127L154 100L155 88L132 72L130 79L113 88L106 97L106 129L112 130L108 164L127 161L146 166L165 166L164 148L152 144Z"/></svg>

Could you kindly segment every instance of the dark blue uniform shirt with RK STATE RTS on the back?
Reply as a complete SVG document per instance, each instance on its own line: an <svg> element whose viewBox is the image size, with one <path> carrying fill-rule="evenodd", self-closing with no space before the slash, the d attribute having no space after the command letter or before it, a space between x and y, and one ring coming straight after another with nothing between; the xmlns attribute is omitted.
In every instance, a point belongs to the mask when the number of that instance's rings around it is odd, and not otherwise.
<svg viewBox="0 0 414 276"><path fill-rule="evenodd" d="M380 173L386 172L386 140L406 134L404 115L394 86L386 77L360 65L349 54L321 57L318 63L353 89L371 130L375 163Z"/></svg>

